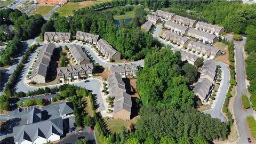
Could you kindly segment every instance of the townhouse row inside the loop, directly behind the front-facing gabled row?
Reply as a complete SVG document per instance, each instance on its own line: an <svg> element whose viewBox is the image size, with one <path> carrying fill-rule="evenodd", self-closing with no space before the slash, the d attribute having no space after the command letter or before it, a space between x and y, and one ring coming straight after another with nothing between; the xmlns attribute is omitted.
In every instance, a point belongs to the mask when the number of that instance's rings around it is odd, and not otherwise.
<svg viewBox="0 0 256 144"><path fill-rule="evenodd" d="M72 59L77 63L77 65L83 65L90 63L90 59L87 57L86 53L82 50L82 47L76 44L71 44L68 46L69 53Z"/></svg>

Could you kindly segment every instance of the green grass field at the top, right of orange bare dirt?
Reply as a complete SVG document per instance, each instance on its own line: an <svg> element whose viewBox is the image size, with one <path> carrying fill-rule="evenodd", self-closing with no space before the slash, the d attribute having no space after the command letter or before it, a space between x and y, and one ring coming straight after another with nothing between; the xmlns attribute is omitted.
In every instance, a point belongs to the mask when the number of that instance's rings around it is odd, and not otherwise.
<svg viewBox="0 0 256 144"><path fill-rule="evenodd" d="M76 2L76 3L68 2L67 4L60 7L60 9L56 10L56 12L58 12L59 15L61 16L67 16L67 15L71 15L73 10L82 9L83 7L91 6L98 3L101 3L101 2L91 2L91 1Z"/></svg>

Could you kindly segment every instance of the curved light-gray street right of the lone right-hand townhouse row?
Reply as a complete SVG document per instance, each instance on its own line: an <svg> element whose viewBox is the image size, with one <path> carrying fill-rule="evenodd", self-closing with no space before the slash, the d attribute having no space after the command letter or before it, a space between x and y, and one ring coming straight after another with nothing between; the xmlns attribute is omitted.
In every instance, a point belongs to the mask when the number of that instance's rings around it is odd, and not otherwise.
<svg viewBox="0 0 256 144"><path fill-rule="evenodd" d="M225 101L226 94L228 92L229 87L229 79L230 73L227 69L228 65L223 62L218 62L217 65L221 66L222 71L224 72L224 76L222 78L222 87L220 89L219 97L217 99L216 105L213 109L203 111L204 114L210 114L213 118L220 118L221 122L227 122L227 118L222 113L222 105Z"/></svg>

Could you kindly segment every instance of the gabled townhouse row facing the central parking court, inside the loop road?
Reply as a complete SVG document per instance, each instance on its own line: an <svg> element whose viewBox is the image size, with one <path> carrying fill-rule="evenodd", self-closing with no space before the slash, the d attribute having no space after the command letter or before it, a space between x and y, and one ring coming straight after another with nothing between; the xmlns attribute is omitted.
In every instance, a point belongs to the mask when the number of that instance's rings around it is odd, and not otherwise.
<svg viewBox="0 0 256 144"><path fill-rule="evenodd" d="M74 77L77 79L79 76L92 76L92 73L92 63L57 68L57 77L60 81L64 81L64 78L70 79L71 77Z"/></svg>

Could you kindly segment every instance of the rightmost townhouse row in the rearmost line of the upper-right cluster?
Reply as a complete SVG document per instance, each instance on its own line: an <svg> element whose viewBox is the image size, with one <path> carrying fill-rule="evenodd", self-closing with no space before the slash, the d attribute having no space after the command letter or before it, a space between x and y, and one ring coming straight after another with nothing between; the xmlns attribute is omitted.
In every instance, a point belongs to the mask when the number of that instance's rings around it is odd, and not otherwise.
<svg viewBox="0 0 256 144"><path fill-rule="evenodd" d="M215 34L217 36L221 35L225 31L223 27L212 25L202 21L198 21L196 23L196 29L205 31L207 33Z"/></svg>

